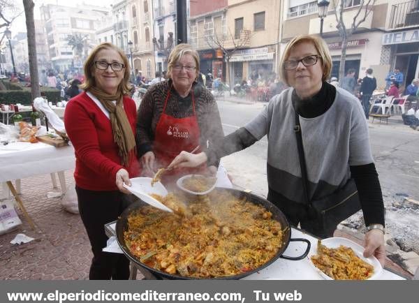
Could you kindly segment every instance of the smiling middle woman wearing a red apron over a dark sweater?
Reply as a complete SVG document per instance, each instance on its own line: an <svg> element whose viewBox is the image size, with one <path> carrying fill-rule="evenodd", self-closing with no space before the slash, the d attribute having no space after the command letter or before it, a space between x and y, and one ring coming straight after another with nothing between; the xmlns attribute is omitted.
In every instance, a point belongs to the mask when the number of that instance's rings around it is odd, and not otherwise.
<svg viewBox="0 0 419 303"><path fill-rule="evenodd" d="M137 146L144 175L153 176L180 151L199 151L218 146L223 128L214 97L197 83L199 56L191 45L176 45L168 58L168 80L147 89L138 108ZM199 152L198 151L198 152ZM216 170L219 161L208 163ZM165 172L162 182L171 186L179 177L205 172L205 165L196 169Z"/></svg>

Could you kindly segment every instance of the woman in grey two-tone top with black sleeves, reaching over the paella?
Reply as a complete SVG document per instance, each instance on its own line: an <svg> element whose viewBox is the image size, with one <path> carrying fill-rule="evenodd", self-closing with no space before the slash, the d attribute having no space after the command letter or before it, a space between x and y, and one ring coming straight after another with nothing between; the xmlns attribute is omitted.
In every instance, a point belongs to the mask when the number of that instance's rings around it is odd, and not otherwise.
<svg viewBox="0 0 419 303"><path fill-rule="evenodd" d="M332 237L337 226L318 223L304 198L294 127L297 115L309 163L309 199L328 197L353 178L368 227L364 256L374 254L383 265L383 196L360 102L326 82L332 58L328 45L318 36L293 38L279 66L281 79L291 88L274 96L246 126L227 135L219 148L200 154L182 151L168 168L202 165L245 149L267 135L267 200L284 212L292 226L300 223L302 229L318 237Z"/></svg>

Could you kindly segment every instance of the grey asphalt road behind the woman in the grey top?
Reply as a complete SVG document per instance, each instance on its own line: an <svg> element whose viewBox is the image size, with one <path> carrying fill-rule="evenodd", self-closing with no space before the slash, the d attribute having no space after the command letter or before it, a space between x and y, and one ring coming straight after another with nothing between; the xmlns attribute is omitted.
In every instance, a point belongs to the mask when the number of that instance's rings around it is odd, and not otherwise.
<svg viewBox="0 0 419 303"><path fill-rule="evenodd" d="M219 101L224 133L232 133L256 117L264 103L242 104ZM378 124L369 121L369 135L384 195L409 195L419 200L419 131L403 124ZM267 139L264 137L252 147L223 158L235 183L267 193L266 183Z"/></svg>

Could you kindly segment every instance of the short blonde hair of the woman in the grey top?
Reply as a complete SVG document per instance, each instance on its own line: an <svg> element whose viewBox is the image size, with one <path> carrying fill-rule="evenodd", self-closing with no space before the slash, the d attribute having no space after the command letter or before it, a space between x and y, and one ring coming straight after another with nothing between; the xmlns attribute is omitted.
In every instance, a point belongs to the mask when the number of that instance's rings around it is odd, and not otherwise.
<svg viewBox="0 0 419 303"><path fill-rule="evenodd" d="M323 77L321 77L322 81L326 81L330 77L330 73L332 72L332 57L330 57L330 52L328 45L325 43L325 40L318 36L311 36L311 35L300 35L293 38L285 47L284 53L282 54L281 61L279 62L279 74L281 75L282 80L286 82L287 85L288 79L286 77L286 71L284 68L284 62L288 60L291 54L291 50L295 45L302 42L309 42L316 47L318 55L320 56L322 69L323 69Z"/></svg>

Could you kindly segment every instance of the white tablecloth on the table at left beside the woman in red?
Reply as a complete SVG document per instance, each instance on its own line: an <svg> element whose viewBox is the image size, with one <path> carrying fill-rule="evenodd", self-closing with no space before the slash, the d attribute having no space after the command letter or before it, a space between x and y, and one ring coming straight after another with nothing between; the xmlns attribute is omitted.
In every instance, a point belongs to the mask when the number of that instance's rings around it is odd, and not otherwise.
<svg viewBox="0 0 419 303"><path fill-rule="evenodd" d="M43 142L0 145L0 182L75 168L74 149Z"/></svg>

